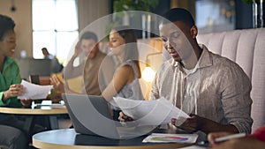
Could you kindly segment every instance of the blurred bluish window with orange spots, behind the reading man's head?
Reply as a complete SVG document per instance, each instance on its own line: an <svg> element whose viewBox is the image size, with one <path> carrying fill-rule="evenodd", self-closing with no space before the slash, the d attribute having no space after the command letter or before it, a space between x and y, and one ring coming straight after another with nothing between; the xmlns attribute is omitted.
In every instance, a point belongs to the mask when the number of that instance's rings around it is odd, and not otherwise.
<svg viewBox="0 0 265 149"><path fill-rule="evenodd" d="M197 0L196 25L200 34L234 30L234 0Z"/></svg>

